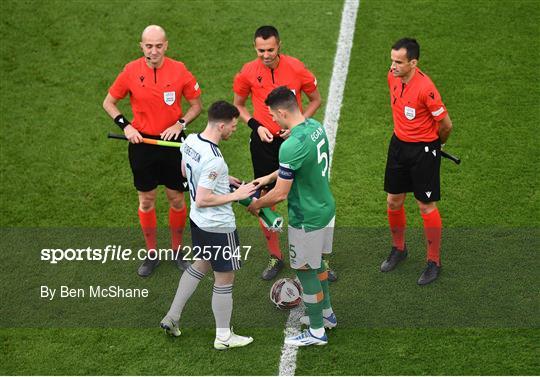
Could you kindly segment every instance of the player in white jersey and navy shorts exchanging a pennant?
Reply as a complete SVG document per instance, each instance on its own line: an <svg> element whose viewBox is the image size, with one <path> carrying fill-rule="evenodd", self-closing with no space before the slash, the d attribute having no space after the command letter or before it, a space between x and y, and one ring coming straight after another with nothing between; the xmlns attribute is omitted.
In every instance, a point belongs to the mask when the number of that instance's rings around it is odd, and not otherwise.
<svg viewBox="0 0 540 377"><path fill-rule="evenodd" d="M200 134L189 135L181 147L182 174L187 178L191 199L189 213L193 257L199 258L178 283L178 289L161 327L170 335L179 336L178 323L188 299L210 268L214 271L212 311L216 320L214 348L223 350L246 346L248 336L230 329L234 271L240 268L240 245L232 202L255 193L253 184L241 184L229 176L229 168L218 144L236 130L238 109L218 101L208 109L208 124ZM230 192L230 186L238 187Z"/></svg>

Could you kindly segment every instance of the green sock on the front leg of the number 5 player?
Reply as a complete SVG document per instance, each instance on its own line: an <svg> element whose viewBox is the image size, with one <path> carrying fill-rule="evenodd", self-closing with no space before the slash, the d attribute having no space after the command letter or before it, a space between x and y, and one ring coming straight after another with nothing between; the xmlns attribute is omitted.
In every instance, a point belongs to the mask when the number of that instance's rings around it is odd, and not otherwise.
<svg viewBox="0 0 540 377"><path fill-rule="evenodd" d="M302 284L304 304L309 316L309 327L320 329L323 327L322 299L323 292L321 282L317 277L316 270L296 270L296 275Z"/></svg>

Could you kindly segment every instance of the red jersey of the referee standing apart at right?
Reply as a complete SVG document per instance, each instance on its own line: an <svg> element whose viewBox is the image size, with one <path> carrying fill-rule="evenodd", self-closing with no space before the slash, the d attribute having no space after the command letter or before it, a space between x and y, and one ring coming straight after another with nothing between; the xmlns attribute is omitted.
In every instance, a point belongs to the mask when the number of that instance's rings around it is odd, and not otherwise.
<svg viewBox="0 0 540 377"><path fill-rule="evenodd" d="M388 72L394 133L406 142L429 142L439 138L439 121L447 114L439 91L420 69L403 84Z"/></svg>

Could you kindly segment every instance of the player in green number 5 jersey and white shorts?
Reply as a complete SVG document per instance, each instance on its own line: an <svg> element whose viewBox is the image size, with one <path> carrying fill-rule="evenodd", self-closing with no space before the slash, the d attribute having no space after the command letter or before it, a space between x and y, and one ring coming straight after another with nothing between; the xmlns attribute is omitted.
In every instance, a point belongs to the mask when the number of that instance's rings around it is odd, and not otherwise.
<svg viewBox="0 0 540 377"><path fill-rule="evenodd" d="M257 178L263 186L276 181L274 189L248 210L256 215L260 208L271 207L285 199L289 210L289 257L302 283L302 298L309 325L303 333L285 339L295 346L324 345L324 328L337 325L330 303L328 272L322 254L332 252L336 203L328 182L329 146L323 126L306 119L294 93L285 86L274 89L266 98L270 114L290 136L279 149L279 170Z"/></svg>

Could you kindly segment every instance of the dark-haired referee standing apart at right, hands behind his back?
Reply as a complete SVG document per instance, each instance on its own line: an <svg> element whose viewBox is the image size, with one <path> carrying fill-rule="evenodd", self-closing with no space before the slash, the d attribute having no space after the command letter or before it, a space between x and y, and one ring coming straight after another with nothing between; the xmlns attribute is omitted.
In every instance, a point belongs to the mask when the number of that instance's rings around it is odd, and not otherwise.
<svg viewBox="0 0 540 377"><path fill-rule="evenodd" d="M388 148L384 190L392 250L381 271L393 270L407 257L405 209L407 192L414 193L424 221L427 265L418 279L425 285L436 280L441 269L440 200L441 145L452 131L441 96L431 79L418 67L420 46L415 39L403 38L392 46L388 86L394 134Z"/></svg>

